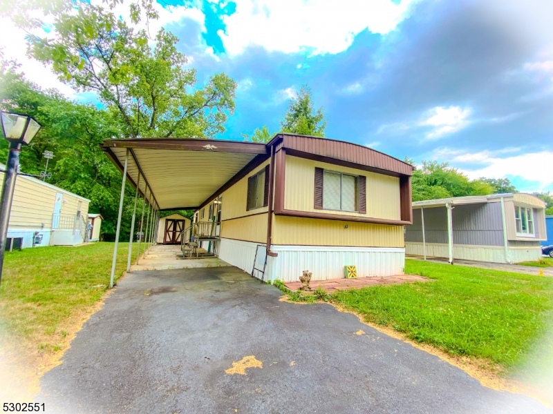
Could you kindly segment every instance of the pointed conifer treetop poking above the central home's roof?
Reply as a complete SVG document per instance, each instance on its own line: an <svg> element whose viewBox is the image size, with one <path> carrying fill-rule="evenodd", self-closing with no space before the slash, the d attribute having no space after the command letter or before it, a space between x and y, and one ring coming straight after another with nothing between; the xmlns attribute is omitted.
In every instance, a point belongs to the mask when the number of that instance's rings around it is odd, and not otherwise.
<svg viewBox="0 0 553 414"><path fill-rule="evenodd" d="M307 83L301 86L297 97L290 99L288 112L281 120L282 132L324 137L326 120L323 108L313 108L312 93Z"/></svg>

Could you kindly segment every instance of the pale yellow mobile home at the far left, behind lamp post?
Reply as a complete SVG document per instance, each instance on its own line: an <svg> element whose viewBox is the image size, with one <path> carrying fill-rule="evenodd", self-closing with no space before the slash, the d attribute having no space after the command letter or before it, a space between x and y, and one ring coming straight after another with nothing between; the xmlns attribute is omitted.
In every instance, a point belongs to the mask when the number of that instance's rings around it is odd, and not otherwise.
<svg viewBox="0 0 553 414"><path fill-rule="evenodd" d="M5 168L0 164L0 189ZM83 243L89 203L35 177L17 175L6 250Z"/></svg>

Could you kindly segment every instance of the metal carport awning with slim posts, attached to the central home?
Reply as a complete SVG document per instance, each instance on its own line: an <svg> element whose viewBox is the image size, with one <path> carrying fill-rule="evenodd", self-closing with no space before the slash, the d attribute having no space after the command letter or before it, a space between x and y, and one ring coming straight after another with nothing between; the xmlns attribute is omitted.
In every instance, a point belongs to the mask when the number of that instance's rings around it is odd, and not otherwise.
<svg viewBox="0 0 553 414"><path fill-rule="evenodd" d="M106 139L101 146L122 172L119 214L113 249L110 287L113 287L115 261L121 228L126 181L135 188L127 270L131 266L133 233L138 198L146 206L146 227L140 221L140 242L156 241L159 212L196 210L245 177L245 172L270 155L265 144L206 139Z"/></svg>

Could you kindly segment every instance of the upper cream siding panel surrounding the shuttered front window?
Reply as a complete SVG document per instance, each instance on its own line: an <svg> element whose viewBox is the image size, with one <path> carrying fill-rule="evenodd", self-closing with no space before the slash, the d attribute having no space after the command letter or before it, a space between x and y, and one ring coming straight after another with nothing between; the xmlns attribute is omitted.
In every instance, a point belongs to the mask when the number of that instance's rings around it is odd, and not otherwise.
<svg viewBox="0 0 553 414"><path fill-rule="evenodd" d="M366 176L366 214L315 209L315 167ZM284 186L286 210L400 220L400 207L400 179L397 177L286 155Z"/></svg>

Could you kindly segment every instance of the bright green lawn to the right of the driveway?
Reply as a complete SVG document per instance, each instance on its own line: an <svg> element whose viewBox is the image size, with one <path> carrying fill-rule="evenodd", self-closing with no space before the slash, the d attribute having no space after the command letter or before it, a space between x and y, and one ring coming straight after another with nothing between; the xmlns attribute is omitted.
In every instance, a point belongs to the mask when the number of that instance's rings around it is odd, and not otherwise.
<svg viewBox="0 0 553 414"><path fill-rule="evenodd" d="M405 273L435 282L332 295L367 322L390 326L452 355L512 368L551 326L553 278L406 260Z"/></svg>

